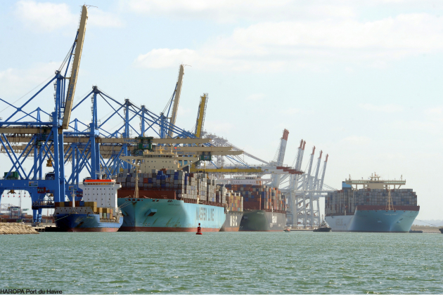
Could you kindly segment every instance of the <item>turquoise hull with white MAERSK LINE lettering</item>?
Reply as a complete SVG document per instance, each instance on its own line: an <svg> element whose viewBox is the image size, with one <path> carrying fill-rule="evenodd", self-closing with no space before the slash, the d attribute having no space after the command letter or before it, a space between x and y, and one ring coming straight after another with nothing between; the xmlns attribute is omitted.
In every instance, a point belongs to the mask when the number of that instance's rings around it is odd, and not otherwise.
<svg viewBox="0 0 443 295"><path fill-rule="evenodd" d="M120 231L218 232L226 216L224 207L186 203L178 199L117 199L124 216Z"/></svg>

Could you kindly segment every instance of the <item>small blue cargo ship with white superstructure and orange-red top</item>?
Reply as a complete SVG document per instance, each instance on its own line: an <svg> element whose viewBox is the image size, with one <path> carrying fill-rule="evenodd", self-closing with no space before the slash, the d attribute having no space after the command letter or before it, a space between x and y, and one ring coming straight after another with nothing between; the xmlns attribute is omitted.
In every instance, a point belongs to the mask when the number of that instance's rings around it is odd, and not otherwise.
<svg viewBox="0 0 443 295"><path fill-rule="evenodd" d="M123 223L117 208L117 190L120 185L113 180L89 179L79 188L83 200L56 202L53 217L58 231L66 232L116 232Z"/></svg>

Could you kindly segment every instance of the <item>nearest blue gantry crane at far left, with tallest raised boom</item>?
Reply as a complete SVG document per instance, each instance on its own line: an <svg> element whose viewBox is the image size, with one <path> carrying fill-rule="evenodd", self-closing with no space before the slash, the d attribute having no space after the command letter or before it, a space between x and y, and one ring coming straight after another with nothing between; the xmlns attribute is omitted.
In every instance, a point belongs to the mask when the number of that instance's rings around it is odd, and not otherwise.
<svg viewBox="0 0 443 295"><path fill-rule="evenodd" d="M41 220L41 209L53 206L53 202L65 200L67 191L65 166L63 164L65 159L63 139L64 131L68 129L72 102L75 96L87 18L88 10L86 6L82 6L75 41L62 65L56 70L55 76L48 83L20 107L1 99L3 103L13 107L13 112L4 121L0 122L1 147L4 148L12 164L11 169L5 172L4 178L0 180L0 201L5 190L25 190L29 192L32 197L34 222ZM70 65L72 65L70 77L67 77ZM63 69L65 69L64 74ZM69 79L68 88L66 88L67 79ZM53 83L55 91L53 112L45 111L41 107L37 107L34 111L27 111L27 105L38 98L41 91L51 83ZM47 122L41 119L42 113L49 115ZM11 145L17 137L26 138L25 140L27 140L27 144L21 150L16 150ZM34 163L30 171L27 172L24 163L31 154L34 157ZM53 166L54 171L43 176L42 168L45 160L48 166ZM53 202L44 202L46 195L53 196L51 200Z"/></svg>

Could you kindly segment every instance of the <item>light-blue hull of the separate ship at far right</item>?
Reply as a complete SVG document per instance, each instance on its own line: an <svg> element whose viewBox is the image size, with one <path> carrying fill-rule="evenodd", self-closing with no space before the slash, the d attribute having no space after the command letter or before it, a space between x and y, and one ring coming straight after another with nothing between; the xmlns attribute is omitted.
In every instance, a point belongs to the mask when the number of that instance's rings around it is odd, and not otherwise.
<svg viewBox="0 0 443 295"><path fill-rule="evenodd" d="M353 216L326 216L333 232L409 232L419 206L385 210L384 206L357 206Z"/></svg>

